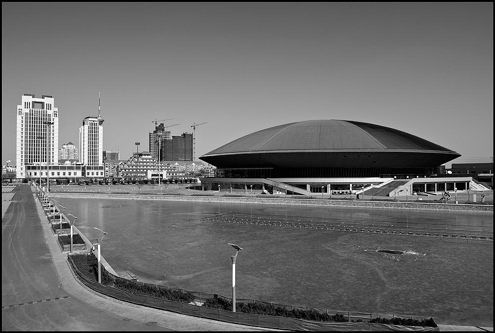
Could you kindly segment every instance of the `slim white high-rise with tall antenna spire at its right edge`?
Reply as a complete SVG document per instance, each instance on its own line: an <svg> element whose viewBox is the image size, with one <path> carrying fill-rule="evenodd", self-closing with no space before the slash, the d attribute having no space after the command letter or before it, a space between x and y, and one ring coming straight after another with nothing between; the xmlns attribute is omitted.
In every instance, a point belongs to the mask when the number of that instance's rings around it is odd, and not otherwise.
<svg viewBox="0 0 495 333"><path fill-rule="evenodd" d="M79 127L79 162L85 166L103 165L103 121L100 114L100 98L98 116L89 116L83 119Z"/></svg>

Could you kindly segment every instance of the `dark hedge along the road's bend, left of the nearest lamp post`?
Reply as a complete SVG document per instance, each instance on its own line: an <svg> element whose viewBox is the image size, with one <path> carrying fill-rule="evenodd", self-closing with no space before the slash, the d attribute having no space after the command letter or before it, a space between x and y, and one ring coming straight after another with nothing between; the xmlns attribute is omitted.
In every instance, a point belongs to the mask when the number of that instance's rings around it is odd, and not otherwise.
<svg viewBox="0 0 495 333"><path fill-rule="evenodd" d="M81 274L93 281L98 281L98 259L94 255L80 254L73 255L71 258ZM182 303L194 301L194 295L190 292L139 283L124 278L115 279L104 268L101 269L101 283L135 295L151 296Z"/></svg>

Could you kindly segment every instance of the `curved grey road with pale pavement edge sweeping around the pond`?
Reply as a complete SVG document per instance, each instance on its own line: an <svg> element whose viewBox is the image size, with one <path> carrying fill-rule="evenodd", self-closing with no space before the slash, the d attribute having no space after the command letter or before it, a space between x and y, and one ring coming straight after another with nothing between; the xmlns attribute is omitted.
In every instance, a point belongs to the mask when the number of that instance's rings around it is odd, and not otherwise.
<svg viewBox="0 0 495 333"><path fill-rule="evenodd" d="M2 217L2 331L265 331L133 305L83 286L33 191L15 187Z"/></svg>

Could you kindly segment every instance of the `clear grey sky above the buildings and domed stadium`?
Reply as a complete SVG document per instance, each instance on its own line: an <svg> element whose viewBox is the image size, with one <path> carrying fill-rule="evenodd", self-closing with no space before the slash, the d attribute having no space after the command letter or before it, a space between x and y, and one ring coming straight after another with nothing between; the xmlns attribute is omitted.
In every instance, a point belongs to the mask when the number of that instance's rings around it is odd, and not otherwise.
<svg viewBox="0 0 495 333"><path fill-rule="evenodd" d="M155 119L196 160L295 121L396 128L493 162L493 3L2 2L2 164L16 106L53 96L59 147L87 116L128 159ZM449 164L447 164L447 167Z"/></svg>

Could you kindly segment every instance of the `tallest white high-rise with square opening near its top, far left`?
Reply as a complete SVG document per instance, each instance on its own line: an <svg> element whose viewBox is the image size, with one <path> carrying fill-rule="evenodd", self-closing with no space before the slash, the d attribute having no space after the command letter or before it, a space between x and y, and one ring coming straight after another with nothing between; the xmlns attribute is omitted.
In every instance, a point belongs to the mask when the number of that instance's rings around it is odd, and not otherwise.
<svg viewBox="0 0 495 333"><path fill-rule="evenodd" d="M58 163L58 108L52 96L24 94L17 106L16 177L24 178L26 165L42 169Z"/></svg>

